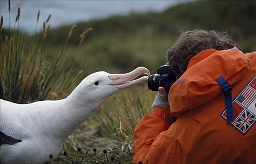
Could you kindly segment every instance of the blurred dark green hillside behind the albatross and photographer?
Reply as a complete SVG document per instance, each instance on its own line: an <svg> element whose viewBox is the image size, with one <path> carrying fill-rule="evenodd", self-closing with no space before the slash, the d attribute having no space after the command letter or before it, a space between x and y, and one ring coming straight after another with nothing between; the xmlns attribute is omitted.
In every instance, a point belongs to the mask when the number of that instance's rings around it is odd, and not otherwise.
<svg viewBox="0 0 256 164"><path fill-rule="evenodd" d="M148 67L152 73L165 63L166 49L181 31L203 29L228 31L243 52L256 49L256 1L195 1L179 4L161 13L131 13L78 23L69 44L92 27L86 45L72 47L69 57L82 63L88 73L106 70L127 72ZM51 30L52 52L70 26Z"/></svg>

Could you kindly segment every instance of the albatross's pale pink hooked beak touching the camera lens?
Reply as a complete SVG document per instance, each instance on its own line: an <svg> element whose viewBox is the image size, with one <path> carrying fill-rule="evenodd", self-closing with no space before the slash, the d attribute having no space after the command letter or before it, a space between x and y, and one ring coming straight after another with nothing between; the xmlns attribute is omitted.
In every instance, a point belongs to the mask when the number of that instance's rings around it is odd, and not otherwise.
<svg viewBox="0 0 256 164"><path fill-rule="evenodd" d="M143 76L139 79L133 80L136 77L140 75L147 75ZM111 85L119 90L128 88L130 86L147 82L148 81L148 76L150 75L150 72L147 68L145 67L137 67L135 70L127 73L127 74L110 74L108 75L108 78L112 80Z"/></svg>

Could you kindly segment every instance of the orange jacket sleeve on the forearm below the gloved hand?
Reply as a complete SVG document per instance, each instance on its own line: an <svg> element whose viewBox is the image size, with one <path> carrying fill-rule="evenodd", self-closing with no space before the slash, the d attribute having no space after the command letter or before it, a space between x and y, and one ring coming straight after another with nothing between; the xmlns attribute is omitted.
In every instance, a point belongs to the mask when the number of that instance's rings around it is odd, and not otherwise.
<svg viewBox="0 0 256 164"><path fill-rule="evenodd" d="M155 108L152 115L147 114L139 121L134 130L133 162L135 164L138 164L139 161L141 161L143 164L149 163L149 159L152 158L150 157L150 149L152 147L152 144L155 138L161 132L168 129L169 118L169 109ZM160 154L162 154L163 156L167 155L166 153L164 153L165 150L161 149L158 145L154 145L154 149L158 149L157 151L154 151L152 153L154 154L155 160L159 158L159 155L156 155L155 153L160 153L161 151L163 151L163 153ZM151 163L152 162L153 161L151 161Z"/></svg>

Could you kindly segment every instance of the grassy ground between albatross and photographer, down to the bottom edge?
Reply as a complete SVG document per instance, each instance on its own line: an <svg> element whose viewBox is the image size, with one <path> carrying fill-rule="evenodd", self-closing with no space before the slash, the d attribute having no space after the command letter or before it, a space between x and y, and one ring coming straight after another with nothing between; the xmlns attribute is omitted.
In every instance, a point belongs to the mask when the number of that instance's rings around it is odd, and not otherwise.
<svg viewBox="0 0 256 164"><path fill-rule="evenodd" d="M109 97L90 119L68 137L56 162L131 164L133 130L145 114L151 113L154 95L142 84ZM83 149L86 155L81 156L78 148ZM93 149L97 150L97 155ZM108 152L108 159L104 149ZM72 158L64 157L64 152Z"/></svg>

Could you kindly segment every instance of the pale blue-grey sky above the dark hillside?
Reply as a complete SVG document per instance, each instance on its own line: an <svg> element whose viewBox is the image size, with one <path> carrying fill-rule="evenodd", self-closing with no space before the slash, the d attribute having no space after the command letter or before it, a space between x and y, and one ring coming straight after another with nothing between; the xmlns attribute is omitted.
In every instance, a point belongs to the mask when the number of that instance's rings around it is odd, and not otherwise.
<svg viewBox="0 0 256 164"><path fill-rule="evenodd" d="M74 24L93 18L103 18L110 15L127 15L131 12L160 12L177 3L186 1L174 0L11 0L11 27L14 26L17 8L21 7L20 29L33 33L40 10L39 28L49 14L51 27L64 24ZM0 15L4 17L4 27L9 26L8 0L0 0Z"/></svg>

